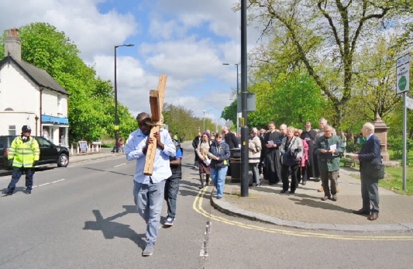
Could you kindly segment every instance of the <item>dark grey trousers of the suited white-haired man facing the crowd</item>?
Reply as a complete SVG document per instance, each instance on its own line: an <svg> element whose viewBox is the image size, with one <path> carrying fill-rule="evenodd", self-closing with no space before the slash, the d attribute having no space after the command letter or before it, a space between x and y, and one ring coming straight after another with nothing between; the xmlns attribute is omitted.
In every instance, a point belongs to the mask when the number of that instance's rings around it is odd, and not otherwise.
<svg viewBox="0 0 413 269"><path fill-rule="evenodd" d="M379 179L372 177L364 170L360 171L360 177L361 198L363 199L362 209L371 213L379 213Z"/></svg>

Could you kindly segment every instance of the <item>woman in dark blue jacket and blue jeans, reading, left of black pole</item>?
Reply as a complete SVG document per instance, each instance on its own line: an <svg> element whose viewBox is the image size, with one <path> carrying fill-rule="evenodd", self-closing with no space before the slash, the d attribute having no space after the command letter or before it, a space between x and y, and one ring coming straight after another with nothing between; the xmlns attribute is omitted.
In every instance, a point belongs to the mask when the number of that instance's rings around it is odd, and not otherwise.
<svg viewBox="0 0 413 269"><path fill-rule="evenodd" d="M213 185L216 188L216 198L220 199L224 192L226 170L228 170L229 145L223 140L222 134L215 136L215 142L209 147L211 158L210 172Z"/></svg>

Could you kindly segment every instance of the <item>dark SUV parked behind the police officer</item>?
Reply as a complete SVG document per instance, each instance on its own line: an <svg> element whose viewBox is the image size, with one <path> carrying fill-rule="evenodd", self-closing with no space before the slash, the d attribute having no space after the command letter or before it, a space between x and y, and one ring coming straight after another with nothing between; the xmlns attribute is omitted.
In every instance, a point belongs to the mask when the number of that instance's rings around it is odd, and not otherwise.
<svg viewBox="0 0 413 269"><path fill-rule="evenodd" d="M11 169L11 161L7 159L8 148L16 135L0 135L0 169ZM65 146L55 145L42 136L32 136L39 143L40 159L37 166L57 163L59 167L69 164L69 149Z"/></svg>

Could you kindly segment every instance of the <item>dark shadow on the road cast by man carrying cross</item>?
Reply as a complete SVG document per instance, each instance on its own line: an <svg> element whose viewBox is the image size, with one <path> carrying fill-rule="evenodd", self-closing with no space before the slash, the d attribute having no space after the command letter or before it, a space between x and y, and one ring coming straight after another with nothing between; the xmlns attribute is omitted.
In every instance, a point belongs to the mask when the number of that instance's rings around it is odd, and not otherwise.
<svg viewBox="0 0 413 269"><path fill-rule="evenodd" d="M143 250L146 247L146 242L142 239L145 237L145 234L137 234L130 229L130 225L113 221L129 213L137 213L135 206L124 205L123 208L125 211L105 219L99 210L92 210L96 221L86 221L83 230L102 231L105 239L113 239L115 237L126 238Z"/></svg>

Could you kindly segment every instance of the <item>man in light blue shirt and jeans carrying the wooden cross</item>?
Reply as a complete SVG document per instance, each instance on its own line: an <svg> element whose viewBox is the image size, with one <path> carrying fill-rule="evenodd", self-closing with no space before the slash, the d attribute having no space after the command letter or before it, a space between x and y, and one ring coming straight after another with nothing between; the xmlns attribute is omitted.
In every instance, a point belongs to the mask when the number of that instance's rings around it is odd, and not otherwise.
<svg viewBox="0 0 413 269"><path fill-rule="evenodd" d="M136 160L133 177L133 195L139 215L146 222L146 248L142 256L153 254L155 241L158 237L159 222L165 190L165 179L172 175L169 167L169 157L175 156L176 148L165 129L160 129L153 136L156 138L156 152L151 176L143 174L148 145L155 142L149 137L151 118L147 113L136 117L139 129L129 134L125 145L126 159Z"/></svg>

